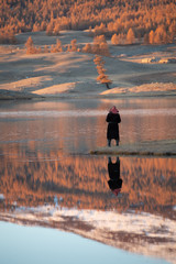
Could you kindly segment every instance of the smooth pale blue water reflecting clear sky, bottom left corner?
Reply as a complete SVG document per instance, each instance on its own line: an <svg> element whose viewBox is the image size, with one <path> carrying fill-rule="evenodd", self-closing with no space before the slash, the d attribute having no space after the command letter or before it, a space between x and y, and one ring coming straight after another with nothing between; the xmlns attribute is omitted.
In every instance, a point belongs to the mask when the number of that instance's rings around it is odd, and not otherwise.
<svg viewBox="0 0 176 264"><path fill-rule="evenodd" d="M75 234L43 229L24 228L0 222L1 263L3 264L55 264L55 263L143 263L166 264L163 260L145 257L116 250ZM7 238L11 233L11 240ZM34 239L35 238L35 239Z"/></svg>

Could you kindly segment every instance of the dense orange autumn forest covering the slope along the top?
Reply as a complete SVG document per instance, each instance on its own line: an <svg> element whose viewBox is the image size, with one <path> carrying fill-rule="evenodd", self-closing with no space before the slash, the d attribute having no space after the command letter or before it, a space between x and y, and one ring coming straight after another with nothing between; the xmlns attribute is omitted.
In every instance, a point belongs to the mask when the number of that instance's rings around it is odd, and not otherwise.
<svg viewBox="0 0 176 264"><path fill-rule="evenodd" d="M113 36L113 44L172 43L176 37L175 13L175 0L3 0L0 43L13 43L12 34L21 32L46 31L48 35L59 35L62 30L89 26L94 36Z"/></svg>

